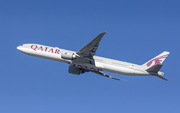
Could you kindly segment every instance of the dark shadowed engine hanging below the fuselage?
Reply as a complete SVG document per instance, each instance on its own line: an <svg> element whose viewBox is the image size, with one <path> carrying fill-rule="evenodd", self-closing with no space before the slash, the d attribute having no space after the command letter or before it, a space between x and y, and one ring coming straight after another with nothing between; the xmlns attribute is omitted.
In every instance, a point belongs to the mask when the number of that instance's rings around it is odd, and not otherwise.
<svg viewBox="0 0 180 113"><path fill-rule="evenodd" d="M80 74L84 73L84 70L82 70L81 68L78 68L78 67L69 66L68 72L71 74L80 75Z"/></svg>

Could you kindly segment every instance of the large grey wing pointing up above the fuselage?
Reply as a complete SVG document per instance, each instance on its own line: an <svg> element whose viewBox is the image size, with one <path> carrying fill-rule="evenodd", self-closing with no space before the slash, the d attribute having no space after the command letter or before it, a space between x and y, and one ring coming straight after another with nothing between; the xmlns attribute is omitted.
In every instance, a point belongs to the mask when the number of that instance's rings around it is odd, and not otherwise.
<svg viewBox="0 0 180 113"><path fill-rule="evenodd" d="M86 46L80 49L76 54L80 57L75 61L81 63L91 63L94 64L93 56L96 53L96 50L99 46L99 42L101 41L102 37L106 34L106 32L100 33L96 38L94 38L91 42L89 42Z"/></svg>

